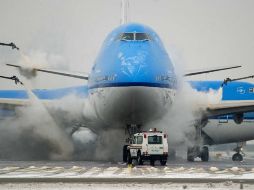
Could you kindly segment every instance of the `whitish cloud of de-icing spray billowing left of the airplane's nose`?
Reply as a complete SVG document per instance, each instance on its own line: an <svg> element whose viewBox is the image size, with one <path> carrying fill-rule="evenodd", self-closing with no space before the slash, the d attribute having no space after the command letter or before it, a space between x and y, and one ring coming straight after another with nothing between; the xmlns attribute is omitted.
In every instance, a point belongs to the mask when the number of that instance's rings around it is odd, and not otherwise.
<svg viewBox="0 0 254 190"><path fill-rule="evenodd" d="M28 105L15 108L16 117L1 121L0 159L119 160L121 154L118 153L122 148L119 141L125 138L123 130L112 129L95 134L81 127L70 135L77 121L84 121L82 98L73 94L53 102L38 99L32 90L36 77L33 68L48 63L42 53L31 55L21 52L19 62L25 65L21 74L25 76L22 82L29 97Z"/></svg>

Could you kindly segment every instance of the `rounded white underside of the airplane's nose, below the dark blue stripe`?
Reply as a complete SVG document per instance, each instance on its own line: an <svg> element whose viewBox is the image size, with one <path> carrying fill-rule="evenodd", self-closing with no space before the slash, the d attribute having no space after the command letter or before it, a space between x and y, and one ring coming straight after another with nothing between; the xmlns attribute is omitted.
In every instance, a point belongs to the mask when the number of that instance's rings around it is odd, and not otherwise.
<svg viewBox="0 0 254 190"><path fill-rule="evenodd" d="M97 116L111 127L144 125L163 117L174 94L174 90L167 88L108 87L92 90L90 101Z"/></svg>

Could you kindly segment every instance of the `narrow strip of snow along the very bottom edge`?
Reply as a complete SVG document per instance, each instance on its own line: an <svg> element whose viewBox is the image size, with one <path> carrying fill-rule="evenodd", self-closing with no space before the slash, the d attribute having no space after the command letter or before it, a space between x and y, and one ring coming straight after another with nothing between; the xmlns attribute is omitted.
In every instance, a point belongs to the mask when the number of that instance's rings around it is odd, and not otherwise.
<svg viewBox="0 0 254 190"><path fill-rule="evenodd" d="M242 189L253 190L253 184L243 184ZM239 190L241 189L241 184L235 184L230 181L224 183L162 183L162 184L150 184L150 183L18 183L18 184L0 184L1 190L14 190L14 189L51 189L51 190L150 190L150 189L188 189L188 190L204 190L204 189L215 189L215 190Z"/></svg>

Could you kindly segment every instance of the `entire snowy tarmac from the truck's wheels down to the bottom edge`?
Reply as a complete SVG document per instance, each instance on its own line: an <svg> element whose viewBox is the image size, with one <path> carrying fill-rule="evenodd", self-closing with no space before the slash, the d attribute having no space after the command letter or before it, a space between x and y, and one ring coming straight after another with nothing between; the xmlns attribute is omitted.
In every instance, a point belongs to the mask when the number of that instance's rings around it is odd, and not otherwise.
<svg viewBox="0 0 254 190"><path fill-rule="evenodd" d="M0 189L254 189L254 160L127 167L110 162L0 161Z"/></svg>

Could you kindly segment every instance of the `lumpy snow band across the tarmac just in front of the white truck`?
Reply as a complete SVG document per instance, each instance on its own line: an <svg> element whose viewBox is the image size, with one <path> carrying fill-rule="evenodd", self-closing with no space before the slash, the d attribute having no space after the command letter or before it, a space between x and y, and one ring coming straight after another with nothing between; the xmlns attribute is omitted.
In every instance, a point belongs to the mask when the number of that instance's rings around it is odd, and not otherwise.
<svg viewBox="0 0 254 190"><path fill-rule="evenodd" d="M254 167L245 168L232 166L218 168L203 167L152 167L149 165L134 166L123 165L108 166L34 166L19 167L7 166L0 169L0 182L202 182L225 180L245 181L254 183Z"/></svg>

